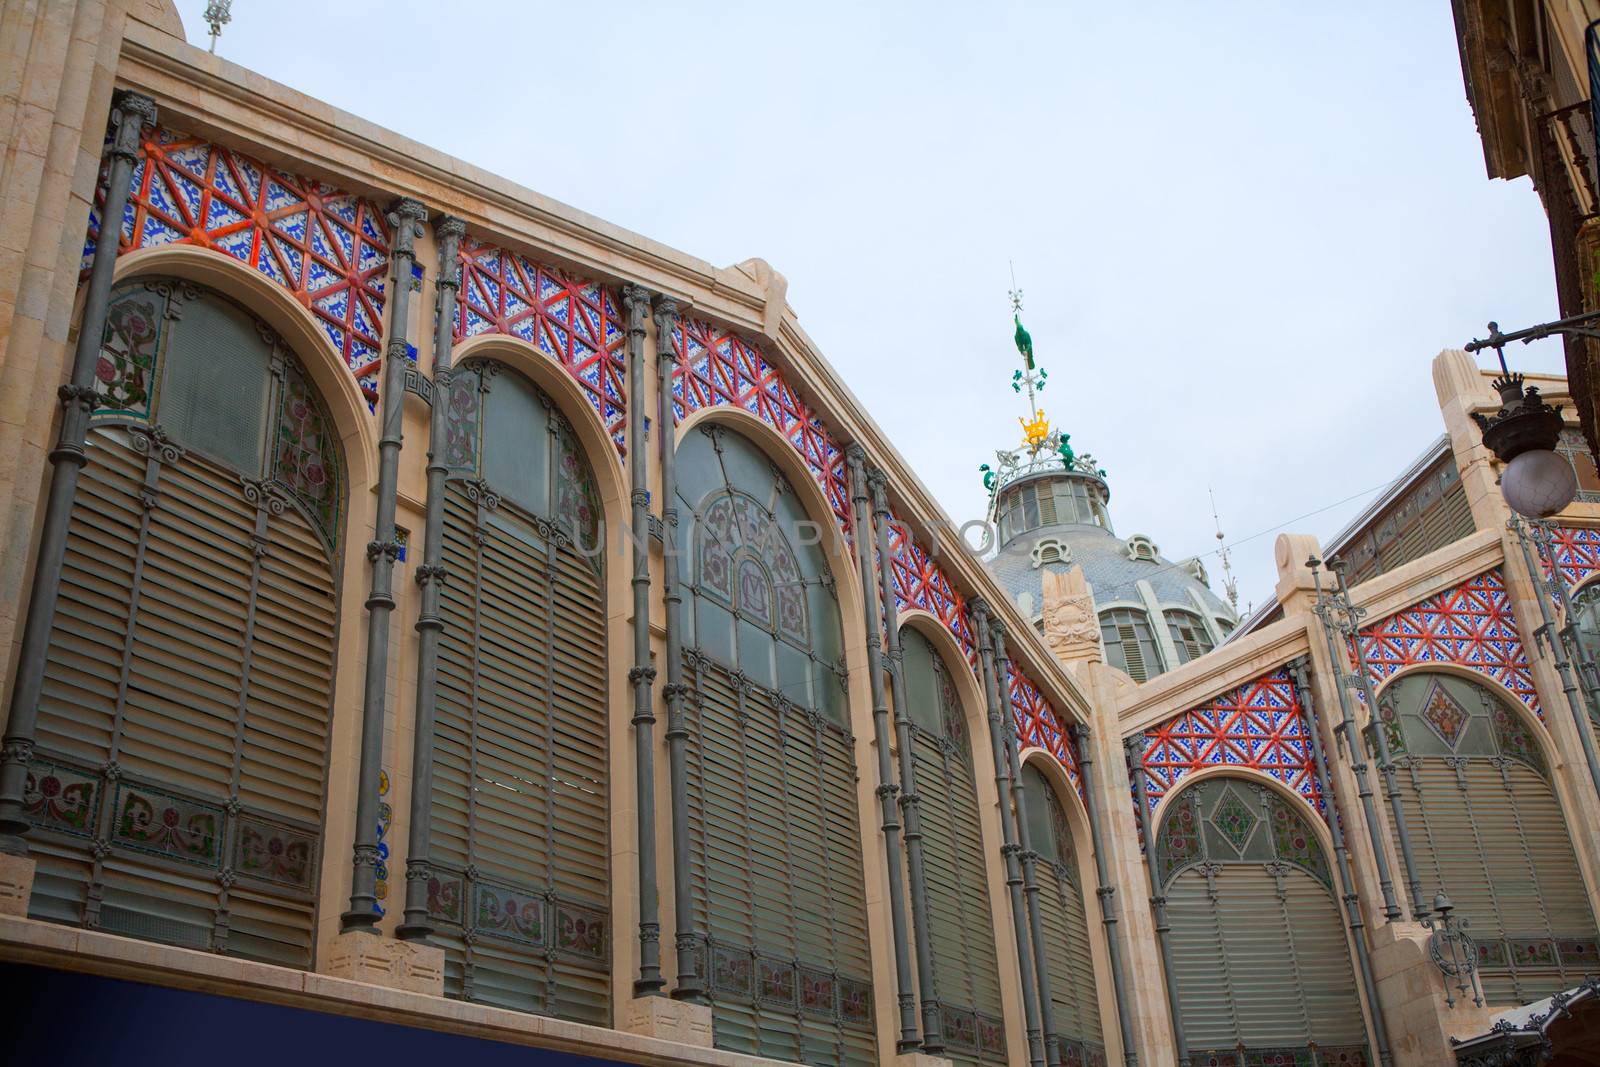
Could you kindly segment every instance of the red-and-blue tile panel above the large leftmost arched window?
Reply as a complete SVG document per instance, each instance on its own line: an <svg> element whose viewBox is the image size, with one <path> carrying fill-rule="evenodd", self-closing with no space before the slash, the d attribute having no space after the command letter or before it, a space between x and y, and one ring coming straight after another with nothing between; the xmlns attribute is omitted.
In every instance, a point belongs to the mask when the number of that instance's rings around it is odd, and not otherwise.
<svg viewBox="0 0 1600 1067"><path fill-rule="evenodd" d="M96 206L83 270L99 229ZM389 269L389 224L376 205L157 128L139 147L118 254L157 245L208 248L282 285L312 314L376 406Z"/></svg>

